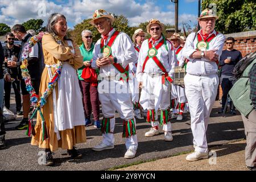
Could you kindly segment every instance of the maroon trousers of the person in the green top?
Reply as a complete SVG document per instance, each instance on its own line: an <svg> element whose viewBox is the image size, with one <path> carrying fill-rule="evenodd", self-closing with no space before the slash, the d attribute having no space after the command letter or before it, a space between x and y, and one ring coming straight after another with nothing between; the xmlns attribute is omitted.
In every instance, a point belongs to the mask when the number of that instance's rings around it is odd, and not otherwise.
<svg viewBox="0 0 256 182"><path fill-rule="evenodd" d="M79 80L80 89L82 92L82 104L84 106L85 118L90 118L93 110L94 121L100 118L100 101L98 99L97 86L91 86L89 82Z"/></svg>

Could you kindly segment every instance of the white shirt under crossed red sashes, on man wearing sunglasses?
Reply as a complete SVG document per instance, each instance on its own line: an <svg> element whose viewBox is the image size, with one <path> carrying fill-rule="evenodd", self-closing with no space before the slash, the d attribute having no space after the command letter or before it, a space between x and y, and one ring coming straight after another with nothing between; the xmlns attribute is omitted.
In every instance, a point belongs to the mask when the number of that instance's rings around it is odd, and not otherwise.
<svg viewBox="0 0 256 182"><path fill-rule="evenodd" d="M152 45L153 47L157 46L159 42L163 39L163 36L159 40L155 41L155 44ZM138 65L137 65L137 80L142 81L142 67L144 60L147 57L147 52L148 52L148 41L152 42L152 39L147 39L144 40L141 46L141 50L139 51L139 58L138 58ZM166 49L167 46L167 49ZM158 53L156 57L158 57L159 61L163 64L164 68L166 68L166 71L168 72L168 75L172 77L174 73L174 67L177 65L177 58L175 55L174 47L172 46L171 42L166 40L166 46L161 46L158 49ZM162 69L158 67L158 65L155 64L155 61L150 58L148 59L145 69L145 73L162 73Z"/></svg>

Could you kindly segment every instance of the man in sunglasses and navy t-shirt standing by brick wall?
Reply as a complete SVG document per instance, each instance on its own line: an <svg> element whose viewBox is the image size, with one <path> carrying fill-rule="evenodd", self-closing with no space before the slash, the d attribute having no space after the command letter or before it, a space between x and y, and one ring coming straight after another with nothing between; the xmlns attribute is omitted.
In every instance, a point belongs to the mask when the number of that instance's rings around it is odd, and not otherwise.
<svg viewBox="0 0 256 182"><path fill-rule="evenodd" d="M233 76L233 69L235 65L242 59L242 53L234 49L235 40L232 37L226 38L226 49L222 51L220 57L220 67L221 67L221 77L220 83L222 88L222 98L221 98L221 110L218 111L219 114L223 113L226 100L228 97L229 90L232 88L233 83L229 80ZM231 105L230 105L231 107ZM236 114L236 110L230 109L230 114Z"/></svg>

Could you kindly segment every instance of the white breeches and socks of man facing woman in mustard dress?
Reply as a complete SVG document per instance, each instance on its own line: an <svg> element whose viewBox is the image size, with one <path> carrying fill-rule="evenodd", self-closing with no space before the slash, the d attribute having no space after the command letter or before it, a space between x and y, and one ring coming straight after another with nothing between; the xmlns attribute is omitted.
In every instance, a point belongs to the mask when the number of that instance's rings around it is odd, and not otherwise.
<svg viewBox="0 0 256 182"><path fill-rule="evenodd" d="M115 117L117 110L121 119L128 121L134 119L133 104L131 102L131 94L128 92L126 81L106 81L103 80L98 84L99 99L101 102L102 113L105 118ZM113 146L114 145L114 126L115 118L110 119L110 133L102 134L102 142ZM137 150L138 140L137 135L132 135L126 138L127 149Z"/></svg>

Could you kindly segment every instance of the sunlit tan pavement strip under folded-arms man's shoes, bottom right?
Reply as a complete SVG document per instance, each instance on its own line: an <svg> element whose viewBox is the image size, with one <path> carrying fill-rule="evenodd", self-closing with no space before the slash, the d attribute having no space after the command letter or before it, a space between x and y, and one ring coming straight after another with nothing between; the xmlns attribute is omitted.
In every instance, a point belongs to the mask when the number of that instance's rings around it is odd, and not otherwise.
<svg viewBox="0 0 256 182"><path fill-rule="evenodd" d="M117 169L118 171L249 171L245 166L246 140L210 148L209 159L185 160L187 154Z"/></svg>

